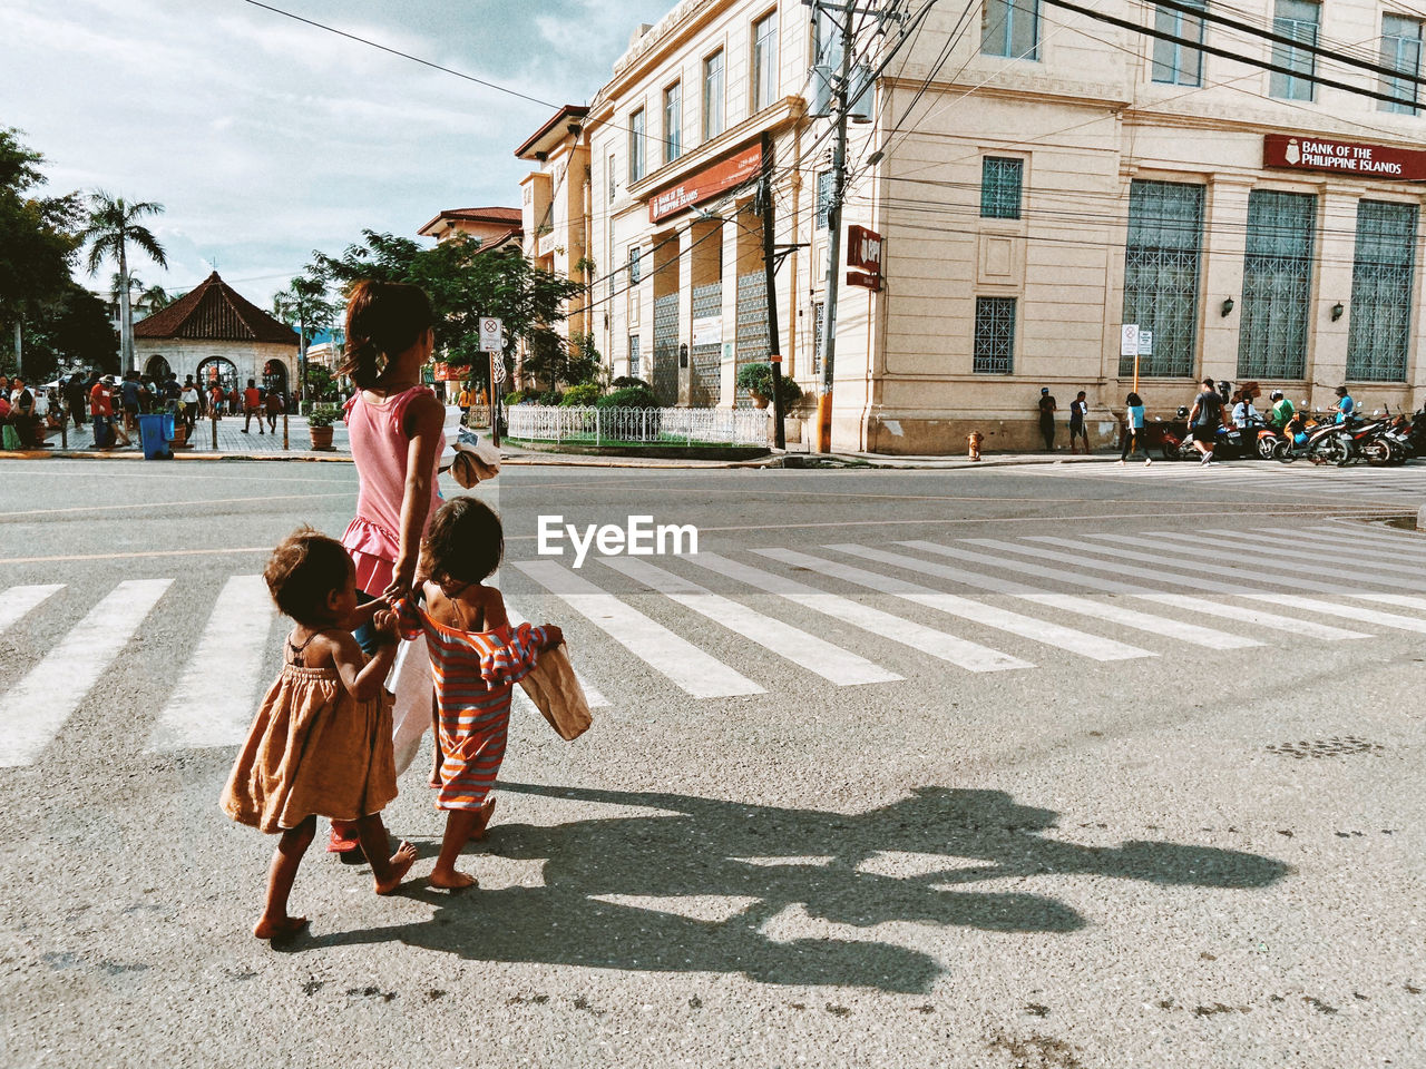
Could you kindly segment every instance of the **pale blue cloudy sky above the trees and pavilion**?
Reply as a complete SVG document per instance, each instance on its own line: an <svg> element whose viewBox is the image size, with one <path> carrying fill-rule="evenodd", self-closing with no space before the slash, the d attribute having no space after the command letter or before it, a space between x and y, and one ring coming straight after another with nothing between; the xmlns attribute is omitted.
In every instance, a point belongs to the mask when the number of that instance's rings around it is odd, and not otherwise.
<svg viewBox="0 0 1426 1069"><path fill-rule="evenodd" d="M586 104L639 23L676 0L271 0L518 90ZM157 201L181 291L214 269L264 308L364 228L416 237L443 208L519 205L513 151L553 107L485 88L247 0L3 0L0 127L47 192ZM113 267L78 277L110 285Z"/></svg>

